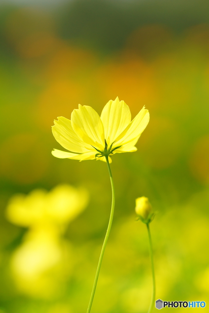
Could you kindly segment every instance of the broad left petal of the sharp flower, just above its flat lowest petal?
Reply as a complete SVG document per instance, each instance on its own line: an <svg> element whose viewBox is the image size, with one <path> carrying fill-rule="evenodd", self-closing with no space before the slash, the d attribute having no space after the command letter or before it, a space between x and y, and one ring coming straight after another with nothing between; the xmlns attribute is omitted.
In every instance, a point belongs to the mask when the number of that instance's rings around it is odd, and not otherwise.
<svg viewBox="0 0 209 313"><path fill-rule="evenodd" d="M73 152L84 153L92 150L92 146L85 144L74 132L71 121L59 116L58 121L54 120L52 132L56 141L65 149Z"/></svg>

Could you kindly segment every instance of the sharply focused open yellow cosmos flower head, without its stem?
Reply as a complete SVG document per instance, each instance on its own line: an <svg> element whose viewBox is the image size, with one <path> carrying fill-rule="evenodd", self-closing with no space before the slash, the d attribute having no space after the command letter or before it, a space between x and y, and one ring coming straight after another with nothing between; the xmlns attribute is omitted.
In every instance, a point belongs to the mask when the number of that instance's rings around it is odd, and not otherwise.
<svg viewBox="0 0 209 313"><path fill-rule="evenodd" d="M54 121L55 139L70 152L54 149L52 154L60 159L106 161L114 153L134 152L141 133L149 122L149 112L144 107L131 121L131 113L124 101L110 100L98 113L90 106L80 105L73 110L71 121L60 116Z"/></svg>

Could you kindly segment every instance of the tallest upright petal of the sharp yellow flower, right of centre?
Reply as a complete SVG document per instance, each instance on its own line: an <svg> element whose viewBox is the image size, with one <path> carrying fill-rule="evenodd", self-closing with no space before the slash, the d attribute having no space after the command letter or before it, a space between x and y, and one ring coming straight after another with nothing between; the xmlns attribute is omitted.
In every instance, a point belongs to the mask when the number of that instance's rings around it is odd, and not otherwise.
<svg viewBox="0 0 209 313"><path fill-rule="evenodd" d="M101 120L104 125L105 139L111 145L131 122L131 113L124 101L110 100L102 110Z"/></svg>

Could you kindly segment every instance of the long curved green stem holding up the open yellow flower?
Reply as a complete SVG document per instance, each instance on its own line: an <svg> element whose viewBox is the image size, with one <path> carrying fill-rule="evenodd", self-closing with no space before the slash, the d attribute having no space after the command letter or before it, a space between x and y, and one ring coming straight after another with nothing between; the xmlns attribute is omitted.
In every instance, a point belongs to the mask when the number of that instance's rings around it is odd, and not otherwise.
<svg viewBox="0 0 209 313"><path fill-rule="evenodd" d="M104 252L105 252L105 247L106 247L106 244L107 244L107 240L108 240L108 237L110 235L110 229L111 229L111 226L112 226L114 207L115 207L115 187L114 187L113 177L112 177L112 173L111 173L111 169L110 169L110 163L109 163L109 160L108 160L108 156L105 156L105 158L106 158L106 162L107 162L107 167L108 167L108 172L109 172L109 175L110 175L110 182L111 182L111 187L112 187L112 206L111 206L111 212L110 212L110 220L109 220L109 224L108 224L108 227L107 227L107 232L106 232L106 235L105 235L105 240L104 240L104 243L102 245L102 250L101 250L101 253L100 253L100 257L99 257L99 263L98 263L97 270L96 270L96 276L95 276L95 279L94 279L94 285L93 285L93 289L92 289L92 292L91 292L91 297L90 297L87 313L90 312L91 306L92 306L92 302L94 300L94 294L95 294L96 285L97 285L97 281L98 281L98 277L99 277L99 271L100 271L100 268L101 268L102 259L103 259L103 255L104 255Z"/></svg>

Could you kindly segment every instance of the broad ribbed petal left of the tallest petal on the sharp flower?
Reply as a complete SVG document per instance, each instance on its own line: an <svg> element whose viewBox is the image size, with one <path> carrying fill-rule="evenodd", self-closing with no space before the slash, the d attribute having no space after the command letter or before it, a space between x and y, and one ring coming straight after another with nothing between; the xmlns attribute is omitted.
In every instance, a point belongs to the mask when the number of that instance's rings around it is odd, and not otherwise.
<svg viewBox="0 0 209 313"><path fill-rule="evenodd" d="M90 106L79 105L71 114L74 132L87 144L104 149L105 136L102 121L97 112Z"/></svg>

